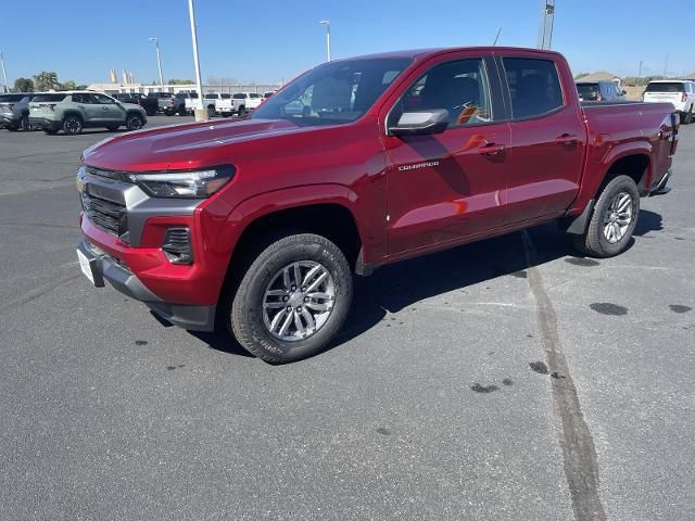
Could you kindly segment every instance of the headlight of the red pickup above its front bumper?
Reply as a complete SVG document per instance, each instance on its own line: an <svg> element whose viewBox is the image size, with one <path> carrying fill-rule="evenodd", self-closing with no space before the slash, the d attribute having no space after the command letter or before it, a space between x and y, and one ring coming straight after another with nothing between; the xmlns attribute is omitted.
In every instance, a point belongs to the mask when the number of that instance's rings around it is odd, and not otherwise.
<svg viewBox="0 0 695 521"><path fill-rule="evenodd" d="M205 199L233 177L233 166L208 170L129 174L128 177L153 198Z"/></svg>

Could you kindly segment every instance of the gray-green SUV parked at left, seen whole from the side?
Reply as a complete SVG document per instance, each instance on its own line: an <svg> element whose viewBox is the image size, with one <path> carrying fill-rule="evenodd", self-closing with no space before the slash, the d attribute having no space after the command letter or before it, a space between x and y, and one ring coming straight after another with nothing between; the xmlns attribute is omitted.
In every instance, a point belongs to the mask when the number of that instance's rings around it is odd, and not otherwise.
<svg viewBox="0 0 695 521"><path fill-rule="evenodd" d="M47 92L29 102L29 125L46 134L80 134L85 128L137 130L148 122L144 109L91 91Z"/></svg>

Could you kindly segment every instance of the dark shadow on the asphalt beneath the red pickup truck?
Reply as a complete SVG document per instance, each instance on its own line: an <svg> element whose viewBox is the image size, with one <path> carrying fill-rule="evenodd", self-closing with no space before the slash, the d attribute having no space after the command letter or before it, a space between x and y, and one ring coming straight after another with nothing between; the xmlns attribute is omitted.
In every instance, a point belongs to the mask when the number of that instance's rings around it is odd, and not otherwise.
<svg viewBox="0 0 695 521"><path fill-rule="evenodd" d="M661 229L661 216L642 209L634 236L645 237ZM527 231L536 250L532 266L563 257L582 258L573 247L571 237L560 231L554 223L540 225ZM634 239L629 249L633 243ZM377 269L371 277L355 277L352 309L348 321L341 333L321 353L368 331L388 318L389 314L402 312L407 307L417 310L418 303L426 298L456 290L465 291L470 285L498 277L526 278L526 269L529 267L531 266L527 263L522 232L517 231L388 265ZM497 295L497 298L503 300L504 294ZM400 325L404 320L406 319L396 318L387 325ZM253 356L241 347L224 327L217 329L214 333L190 333L214 350L239 356ZM320 356L321 353L315 356Z"/></svg>

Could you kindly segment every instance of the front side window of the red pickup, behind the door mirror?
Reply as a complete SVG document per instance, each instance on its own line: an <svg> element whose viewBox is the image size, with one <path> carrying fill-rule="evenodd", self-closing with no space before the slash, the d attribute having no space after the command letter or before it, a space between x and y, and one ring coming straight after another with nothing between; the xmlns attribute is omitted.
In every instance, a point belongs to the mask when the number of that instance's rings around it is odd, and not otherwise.
<svg viewBox="0 0 695 521"><path fill-rule="evenodd" d="M435 109L448 112L450 128L492 122L490 87L482 59L434 65L396 102L389 125L395 125L404 112Z"/></svg>

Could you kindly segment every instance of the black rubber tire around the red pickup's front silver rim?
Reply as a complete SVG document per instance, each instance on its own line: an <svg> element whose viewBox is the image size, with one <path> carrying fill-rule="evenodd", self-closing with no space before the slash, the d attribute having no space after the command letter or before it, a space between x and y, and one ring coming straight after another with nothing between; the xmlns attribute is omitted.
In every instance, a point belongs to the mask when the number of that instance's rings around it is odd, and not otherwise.
<svg viewBox="0 0 695 521"><path fill-rule="evenodd" d="M265 244L267 246L257 256L250 256L253 262L249 263L231 300L229 330L245 350L270 364L306 358L321 351L348 317L352 301L350 266L340 249L321 236L288 232L276 236L275 240L269 239ZM285 341L270 333L264 321L264 295L269 284L276 280L276 274L301 260L320 264L330 275L334 292L332 308L323 326L308 338ZM296 290L299 292L300 289ZM295 309L301 310L302 304L299 305ZM285 309L278 313L285 313Z"/></svg>

